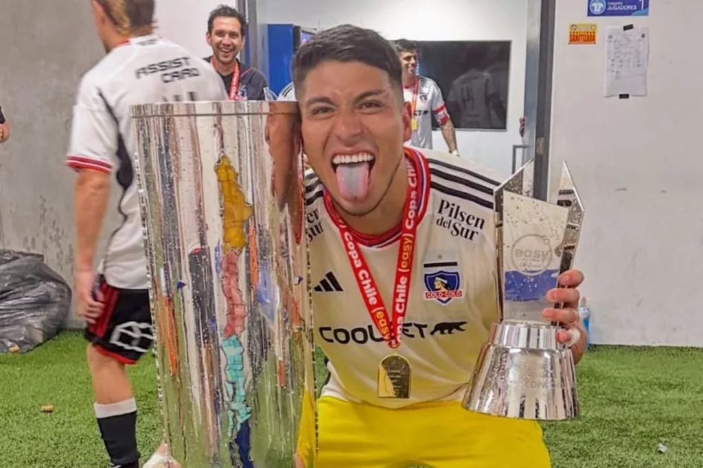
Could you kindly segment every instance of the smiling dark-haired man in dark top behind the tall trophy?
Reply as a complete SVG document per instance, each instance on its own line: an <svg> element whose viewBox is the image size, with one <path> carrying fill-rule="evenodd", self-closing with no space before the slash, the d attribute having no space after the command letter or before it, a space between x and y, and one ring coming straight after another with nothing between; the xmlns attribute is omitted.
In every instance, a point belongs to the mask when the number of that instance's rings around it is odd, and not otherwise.
<svg viewBox="0 0 703 468"><path fill-rule="evenodd" d="M220 5L207 18L207 45L212 55L205 58L222 78L230 100L268 100L269 85L257 69L240 62L247 35L244 15L231 6Z"/></svg>

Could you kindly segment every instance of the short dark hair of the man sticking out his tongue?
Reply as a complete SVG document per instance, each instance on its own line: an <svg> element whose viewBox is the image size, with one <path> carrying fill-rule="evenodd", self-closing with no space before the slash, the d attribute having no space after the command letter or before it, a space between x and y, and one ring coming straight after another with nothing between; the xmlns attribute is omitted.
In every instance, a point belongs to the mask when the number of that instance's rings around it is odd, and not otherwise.
<svg viewBox="0 0 703 468"><path fill-rule="evenodd" d="M403 72L393 46L378 32L352 25L327 29L311 37L295 53L292 63L293 86L302 89L307 74L328 60L361 62L388 74L397 91L403 93Z"/></svg>

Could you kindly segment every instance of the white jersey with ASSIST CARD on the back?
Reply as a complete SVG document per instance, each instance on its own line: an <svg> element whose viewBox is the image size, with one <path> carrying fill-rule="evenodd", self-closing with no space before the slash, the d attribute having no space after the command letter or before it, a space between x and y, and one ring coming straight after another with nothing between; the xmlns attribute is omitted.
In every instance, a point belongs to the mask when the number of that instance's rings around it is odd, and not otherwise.
<svg viewBox="0 0 703 468"><path fill-rule="evenodd" d="M148 288L138 192L131 159L136 135L133 105L224 101L222 80L209 63L156 35L115 47L82 77L67 165L115 175L122 188L116 209L122 222L110 237L100 272L111 286Z"/></svg>

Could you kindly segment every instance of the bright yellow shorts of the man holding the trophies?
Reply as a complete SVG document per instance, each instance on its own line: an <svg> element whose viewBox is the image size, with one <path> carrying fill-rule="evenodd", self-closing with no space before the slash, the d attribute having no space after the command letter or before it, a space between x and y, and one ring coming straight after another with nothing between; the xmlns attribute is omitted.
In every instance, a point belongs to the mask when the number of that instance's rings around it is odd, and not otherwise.
<svg viewBox="0 0 703 468"><path fill-rule="evenodd" d="M317 406L315 464L311 411L303 411L299 432L298 453L308 468L551 467L534 421L471 413L453 401L390 410L323 396Z"/></svg>

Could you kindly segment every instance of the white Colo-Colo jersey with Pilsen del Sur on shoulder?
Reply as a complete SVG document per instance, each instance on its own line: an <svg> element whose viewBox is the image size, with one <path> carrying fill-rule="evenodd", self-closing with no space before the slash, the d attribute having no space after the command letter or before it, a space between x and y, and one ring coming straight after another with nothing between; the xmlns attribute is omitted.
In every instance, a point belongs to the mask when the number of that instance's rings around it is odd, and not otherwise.
<svg viewBox="0 0 703 468"><path fill-rule="evenodd" d="M498 319L493 194L501 178L467 159L406 148L422 197L399 353L413 369L411 399L380 399L378 363L390 350L368 314L340 229L314 173L306 177L315 340L328 358L323 395L395 408L459 400ZM401 230L357 239L386 304ZM324 259L315 262L314 259Z"/></svg>

